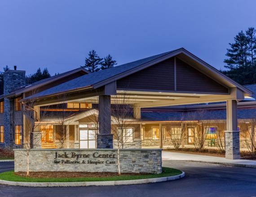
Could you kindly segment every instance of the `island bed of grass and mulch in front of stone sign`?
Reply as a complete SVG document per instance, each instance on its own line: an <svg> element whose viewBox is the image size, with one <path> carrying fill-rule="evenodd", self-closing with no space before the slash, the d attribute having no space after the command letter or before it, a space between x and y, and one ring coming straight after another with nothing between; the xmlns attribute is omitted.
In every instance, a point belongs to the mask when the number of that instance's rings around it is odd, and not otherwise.
<svg viewBox="0 0 256 197"><path fill-rule="evenodd" d="M71 174L81 173L82 176L71 176ZM161 174L130 174L122 173L118 176L117 173L88 173L88 172L45 172L41 175L34 172L30 172L30 176L26 177L22 173L15 173L14 171L6 171L0 173L0 180L9 180L17 182L83 182L83 181L111 181L111 180L139 180L139 179L151 179L167 176L180 175L182 172L177 169L163 167ZM85 173L85 174L84 174ZM88 173L88 174L87 174ZM50 175L51 174L51 175ZM53 176L53 175L56 176ZM66 174L66 176L64 176ZM99 175L99 174L102 174ZM60 177L61 176L61 177Z"/></svg>

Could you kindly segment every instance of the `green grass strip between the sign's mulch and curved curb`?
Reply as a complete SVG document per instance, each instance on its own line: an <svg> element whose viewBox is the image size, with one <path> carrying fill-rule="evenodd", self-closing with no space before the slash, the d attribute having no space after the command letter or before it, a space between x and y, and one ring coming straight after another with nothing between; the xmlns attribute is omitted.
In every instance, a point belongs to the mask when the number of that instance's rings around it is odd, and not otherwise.
<svg viewBox="0 0 256 197"><path fill-rule="evenodd" d="M1 180L10 180L18 182L82 182L82 181L107 181L107 180L135 180L150 179L164 176L175 176L181 174L180 170L163 167L163 173L155 175L131 175L131 176L112 176L112 177L78 177L78 178L32 178L22 177L14 174L14 171L0 173Z"/></svg>

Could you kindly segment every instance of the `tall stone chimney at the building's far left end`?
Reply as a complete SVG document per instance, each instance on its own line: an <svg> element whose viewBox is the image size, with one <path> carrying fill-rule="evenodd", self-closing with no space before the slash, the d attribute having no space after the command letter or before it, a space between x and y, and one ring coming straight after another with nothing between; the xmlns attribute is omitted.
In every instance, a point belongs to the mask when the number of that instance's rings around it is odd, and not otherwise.
<svg viewBox="0 0 256 197"><path fill-rule="evenodd" d="M11 93L13 90L26 85L26 74L23 70L7 70L4 72L4 95ZM15 111L16 112L16 111ZM4 97L4 143L7 147L14 147L14 128L15 114L14 98ZM18 113L20 113L18 111ZM20 114L19 116L22 117ZM23 133L23 127L22 127ZM22 139L23 141L23 139Z"/></svg>

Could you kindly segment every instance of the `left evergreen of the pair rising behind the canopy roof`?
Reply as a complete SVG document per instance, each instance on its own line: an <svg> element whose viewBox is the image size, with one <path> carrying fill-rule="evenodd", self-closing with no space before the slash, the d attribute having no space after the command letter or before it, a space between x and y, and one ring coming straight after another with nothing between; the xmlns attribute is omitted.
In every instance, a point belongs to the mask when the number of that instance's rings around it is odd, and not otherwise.
<svg viewBox="0 0 256 197"><path fill-rule="evenodd" d="M85 58L85 65L83 67L91 73L97 72L100 70L98 65L102 63L102 60L103 59L97 55L96 51L92 50L88 53L88 58Z"/></svg>

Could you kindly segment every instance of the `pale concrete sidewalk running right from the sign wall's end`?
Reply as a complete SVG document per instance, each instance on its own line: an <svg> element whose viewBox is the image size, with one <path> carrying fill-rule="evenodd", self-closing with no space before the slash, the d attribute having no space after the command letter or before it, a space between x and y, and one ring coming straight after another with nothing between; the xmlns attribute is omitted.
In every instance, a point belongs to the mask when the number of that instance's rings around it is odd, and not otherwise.
<svg viewBox="0 0 256 197"><path fill-rule="evenodd" d="M239 167L253 167L256 168L256 161L245 160L245 159L226 159L223 157L213 157L199 154L185 154L162 151L162 158L164 160L179 160L179 161L190 161L190 162L201 162L201 163L215 163L228 166L239 166Z"/></svg>

